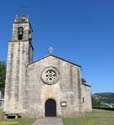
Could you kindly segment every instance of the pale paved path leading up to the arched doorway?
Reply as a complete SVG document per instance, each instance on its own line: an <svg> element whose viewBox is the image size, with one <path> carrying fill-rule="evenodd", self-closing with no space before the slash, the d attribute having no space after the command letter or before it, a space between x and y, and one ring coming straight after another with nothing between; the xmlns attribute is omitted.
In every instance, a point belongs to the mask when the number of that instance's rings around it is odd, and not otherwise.
<svg viewBox="0 0 114 125"><path fill-rule="evenodd" d="M46 117L37 119L32 125L64 125L62 118L57 117Z"/></svg>

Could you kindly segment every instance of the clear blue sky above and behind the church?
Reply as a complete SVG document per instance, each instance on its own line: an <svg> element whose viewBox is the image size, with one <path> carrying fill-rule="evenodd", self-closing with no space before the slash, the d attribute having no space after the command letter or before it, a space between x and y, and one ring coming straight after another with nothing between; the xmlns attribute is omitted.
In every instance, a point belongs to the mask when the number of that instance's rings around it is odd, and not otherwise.
<svg viewBox="0 0 114 125"><path fill-rule="evenodd" d="M34 61L53 54L82 66L92 93L114 92L114 0L1 0L0 60L23 6L33 28Z"/></svg>

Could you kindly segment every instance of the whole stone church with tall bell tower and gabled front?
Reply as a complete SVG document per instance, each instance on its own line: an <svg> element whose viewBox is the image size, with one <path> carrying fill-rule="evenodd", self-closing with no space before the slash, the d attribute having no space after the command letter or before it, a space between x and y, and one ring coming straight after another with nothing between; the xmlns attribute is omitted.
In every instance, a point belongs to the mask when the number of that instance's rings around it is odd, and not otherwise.
<svg viewBox="0 0 114 125"><path fill-rule="evenodd" d="M52 54L33 62L32 26L16 17L8 46L4 114L6 117L74 117L89 112L90 86L81 66Z"/></svg>

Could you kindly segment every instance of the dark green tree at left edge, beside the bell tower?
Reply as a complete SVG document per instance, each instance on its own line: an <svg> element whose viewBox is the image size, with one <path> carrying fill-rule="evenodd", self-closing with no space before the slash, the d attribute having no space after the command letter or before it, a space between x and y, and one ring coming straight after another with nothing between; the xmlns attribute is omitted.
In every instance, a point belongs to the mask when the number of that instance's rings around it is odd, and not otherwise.
<svg viewBox="0 0 114 125"><path fill-rule="evenodd" d="M6 64L4 61L0 61L0 90L2 94L4 94L5 77L6 77Z"/></svg>

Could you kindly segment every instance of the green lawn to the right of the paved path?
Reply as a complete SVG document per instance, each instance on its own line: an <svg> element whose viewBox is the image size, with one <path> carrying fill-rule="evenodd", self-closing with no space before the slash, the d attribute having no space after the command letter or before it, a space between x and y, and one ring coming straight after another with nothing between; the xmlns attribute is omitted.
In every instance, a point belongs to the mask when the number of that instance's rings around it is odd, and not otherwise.
<svg viewBox="0 0 114 125"><path fill-rule="evenodd" d="M80 118L65 118L65 125L114 125L114 111L93 110Z"/></svg>

